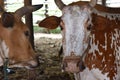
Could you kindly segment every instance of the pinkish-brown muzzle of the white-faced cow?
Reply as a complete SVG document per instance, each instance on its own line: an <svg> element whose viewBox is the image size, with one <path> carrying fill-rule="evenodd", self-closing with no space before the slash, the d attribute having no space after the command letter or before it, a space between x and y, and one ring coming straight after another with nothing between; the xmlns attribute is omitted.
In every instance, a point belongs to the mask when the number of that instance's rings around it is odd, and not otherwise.
<svg viewBox="0 0 120 80"><path fill-rule="evenodd" d="M66 56L63 59L62 69L70 73L78 73L85 69L80 56Z"/></svg>

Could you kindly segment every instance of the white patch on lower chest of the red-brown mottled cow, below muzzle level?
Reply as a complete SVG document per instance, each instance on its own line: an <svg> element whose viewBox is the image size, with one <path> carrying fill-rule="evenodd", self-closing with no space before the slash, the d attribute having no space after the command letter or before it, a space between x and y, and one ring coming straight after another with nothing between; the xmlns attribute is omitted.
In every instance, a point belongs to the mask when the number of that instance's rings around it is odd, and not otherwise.
<svg viewBox="0 0 120 80"><path fill-rule="evenodd" d="M77 79L78 74L80 75L80 78ZM77 76L76 80L110 80L108 76L108 73L102 73L101 70L93 68L92 70L89 70L86 68L83 72L80 72L78 74L75 74Z"/></svg>

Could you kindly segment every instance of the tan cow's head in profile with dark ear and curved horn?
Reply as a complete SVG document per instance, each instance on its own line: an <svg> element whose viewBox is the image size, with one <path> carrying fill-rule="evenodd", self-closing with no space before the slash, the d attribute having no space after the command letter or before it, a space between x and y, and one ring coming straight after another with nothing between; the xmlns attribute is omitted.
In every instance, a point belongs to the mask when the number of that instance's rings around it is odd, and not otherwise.
<svg viewBox="0 0 120 80"><path fill-rule="evenodd" d="M32 69L38 65L35 52L29 42L30 31L21 18L41 7L42 5L26 6L14 13L0 9L0 66L6 58L9 60L9 67Z"/></svg>

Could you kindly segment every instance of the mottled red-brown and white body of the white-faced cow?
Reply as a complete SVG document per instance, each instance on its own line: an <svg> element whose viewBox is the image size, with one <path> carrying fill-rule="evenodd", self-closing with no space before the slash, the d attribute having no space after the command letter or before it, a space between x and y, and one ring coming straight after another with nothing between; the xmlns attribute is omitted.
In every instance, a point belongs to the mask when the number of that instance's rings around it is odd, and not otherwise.
<svg viewBox="0 0 120 80"><path fill-rule="evenodd" d="M119 80L120 76L120 20L93 15L90 49L85 64L92 80ZM89 74L88 72L88 74ZM84 80L84 79L83 79Z"/></svg>

